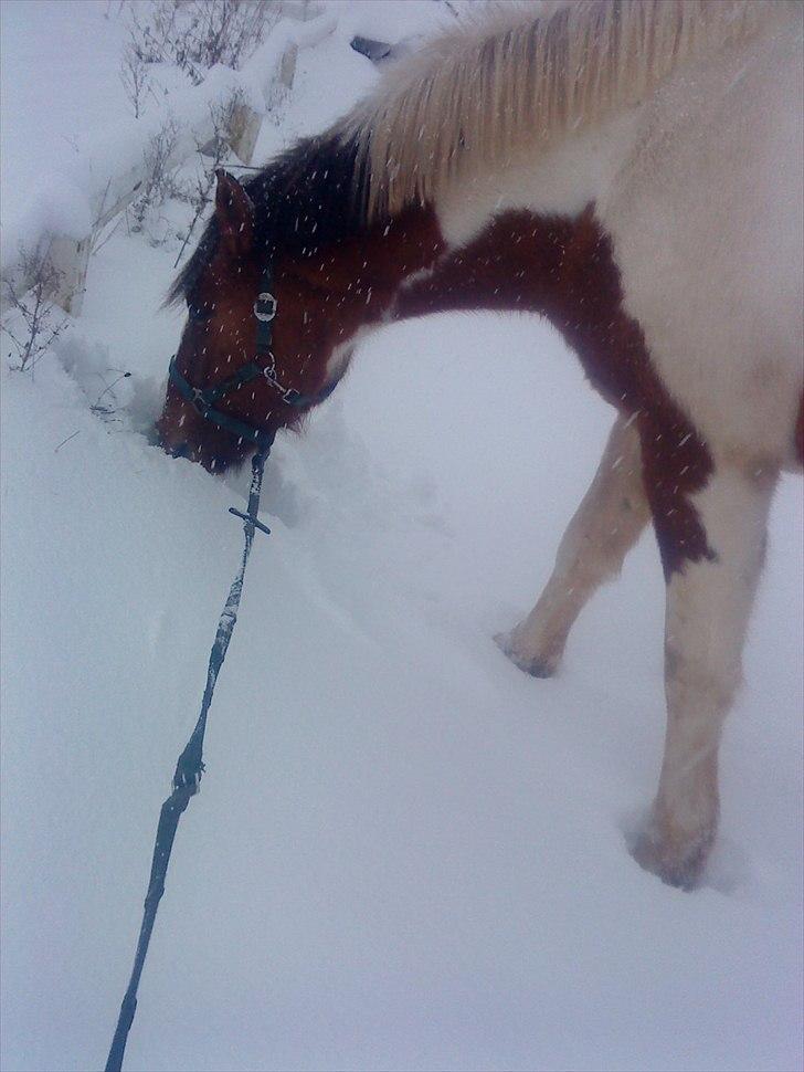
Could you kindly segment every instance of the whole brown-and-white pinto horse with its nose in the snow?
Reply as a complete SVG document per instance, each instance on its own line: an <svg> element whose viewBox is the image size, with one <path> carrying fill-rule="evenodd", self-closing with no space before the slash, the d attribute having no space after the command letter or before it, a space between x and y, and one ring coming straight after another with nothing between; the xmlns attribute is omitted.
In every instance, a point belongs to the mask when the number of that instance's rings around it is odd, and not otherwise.
<svg viewBox="0 0 804 1072"><path fill-rule="evenodd" d="M158 433L213 473L298 425L391 320L516 309L563 334L614 425L544 591L496 640L554 674L653 524L667 726L630 849L687 890L774 486L804 460L803 11L574 0L445 33L248 181L220 170L167 298L189 317Z"/></svg>

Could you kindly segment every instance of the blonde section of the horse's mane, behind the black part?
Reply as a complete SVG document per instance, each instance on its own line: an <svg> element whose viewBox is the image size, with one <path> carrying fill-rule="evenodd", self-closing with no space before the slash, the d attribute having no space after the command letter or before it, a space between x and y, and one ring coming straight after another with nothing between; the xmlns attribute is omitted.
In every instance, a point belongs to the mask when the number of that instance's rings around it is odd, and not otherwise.
<svg viewBox="0 0 804 1072"><path fill-rule="evenodd" d="M638 104L691 56L757 32L780 0L509 6L440 36L351 115L369 216L433 200L466 162ZM793 7L798 7L793 4Z"/></svg>

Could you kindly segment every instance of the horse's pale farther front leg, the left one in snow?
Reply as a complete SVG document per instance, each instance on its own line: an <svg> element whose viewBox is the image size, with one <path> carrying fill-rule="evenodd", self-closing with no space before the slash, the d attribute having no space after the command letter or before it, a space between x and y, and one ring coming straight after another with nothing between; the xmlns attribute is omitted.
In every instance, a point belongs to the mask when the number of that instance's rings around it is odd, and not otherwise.
<svg viewBox="0 0 804 1072"><path fill-rule="evenodd" d="M639 437L633 421L618 418L544 591L523 621L495 638L517 666L536 677L556 673L575 619L603 581L620 572L649 518Z"/></svg>

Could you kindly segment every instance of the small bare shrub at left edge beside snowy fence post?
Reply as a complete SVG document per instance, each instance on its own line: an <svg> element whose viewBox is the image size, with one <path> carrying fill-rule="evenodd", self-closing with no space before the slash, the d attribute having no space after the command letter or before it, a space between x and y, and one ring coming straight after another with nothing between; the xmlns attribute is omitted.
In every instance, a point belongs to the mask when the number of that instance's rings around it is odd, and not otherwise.
<svg viewBox="0 0 804 1072"><path fill-rule="evenodd" d="M17 282L9 276L2 277L4 297L12 311L10 323L3 324L3 330L17 350L18 364L12 364L11 368L33 372L36 361L67 326L67 318L55 314L53 303L62 273L53 266L43 249L20 250L18 269ZM13 353L8 357L14 360Z"/></svg>

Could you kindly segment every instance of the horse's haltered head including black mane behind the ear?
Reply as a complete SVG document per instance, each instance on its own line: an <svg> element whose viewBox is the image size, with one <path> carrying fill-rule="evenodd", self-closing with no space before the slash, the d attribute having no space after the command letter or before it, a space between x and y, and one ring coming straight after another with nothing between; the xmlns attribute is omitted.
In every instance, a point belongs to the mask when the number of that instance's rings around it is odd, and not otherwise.
<svg viewBox="0 0 804 1072"><path fill-rule="evenodd" d="M222 472L329 393L357 332L443 249L431 210L368 219L355 153L309 139L215 212L169 301L189 317L157 422L166 450Z"/></svg>

